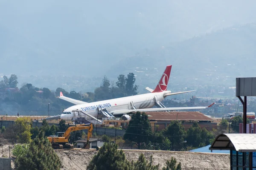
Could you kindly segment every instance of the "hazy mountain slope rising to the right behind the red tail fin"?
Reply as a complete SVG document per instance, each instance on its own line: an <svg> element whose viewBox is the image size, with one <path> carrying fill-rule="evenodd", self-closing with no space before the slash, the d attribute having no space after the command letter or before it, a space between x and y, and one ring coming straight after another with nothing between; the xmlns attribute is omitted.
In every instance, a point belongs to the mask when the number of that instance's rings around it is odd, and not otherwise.
<svg viewBox="0 0 256 170"><path fill-rule="evenodd" d="M148 70L139 70L137 75L148 77L148 81L154 78L156 83L165 66L173 65L171 79L176 83L236 86L236 77L255 77L255 46L256 24L233 26L169 47L141 51L120 61L109 74L115 74L115 68L127 73L144 67Z"/></svg>

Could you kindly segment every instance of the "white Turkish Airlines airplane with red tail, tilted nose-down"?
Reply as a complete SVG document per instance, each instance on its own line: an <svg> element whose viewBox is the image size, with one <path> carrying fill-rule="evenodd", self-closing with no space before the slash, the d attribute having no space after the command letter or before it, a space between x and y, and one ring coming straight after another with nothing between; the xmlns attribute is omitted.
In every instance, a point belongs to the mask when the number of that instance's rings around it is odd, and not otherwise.
<svg viewBox="0 0 256 170"><path fill-rule="evenodd" d="M75 104L70 108L67 108L61 113L60 119L71 120L72 118L90 116L93 119L99 116L99 112L105 117L114 117L116 115L123 115L123 118L130 119L131 117L127 113L131 112L150 112L150 111L175 111L175 110L190 110L190 109L205 109L207 107L180 107L180 108L166 108L161 101L167 96L183 94L192 91L183 91L172 93L167 91L169 77L171 73L172 65L167 65L162 77L160 78L156 88L153 90L149 87L145 88L150 93L140 94L134 96L121 97L116 99L108 99L99 102L83 102L76 99L63 96L60 92L60 99ZM158 108L152 108L156 105ZM80 114L83 113L83 114ZM96 119L98 120L98 119ZM98 120L99 121L99 120Z"/></svg>

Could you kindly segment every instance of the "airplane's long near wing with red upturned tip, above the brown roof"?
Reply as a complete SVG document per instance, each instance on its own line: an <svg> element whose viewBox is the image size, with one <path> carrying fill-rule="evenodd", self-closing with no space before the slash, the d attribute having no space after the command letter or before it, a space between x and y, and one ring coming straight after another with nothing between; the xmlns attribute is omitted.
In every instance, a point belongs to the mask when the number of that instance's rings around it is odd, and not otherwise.
<svg viewBox="0 0 256 170"><path fill-rule="evenodd" d="M122 110L116 110L112 111L111 114L113 115L118 115L118 114L125 114L125 113L130 113L130 112L151 112L151 111L177 111L177 110L190 110L190 109L206 109L214 105L215 103L212 103L209 106L203 106L203 107L180 107L180 108L147 108L147 109L122 109Z"/></svg>

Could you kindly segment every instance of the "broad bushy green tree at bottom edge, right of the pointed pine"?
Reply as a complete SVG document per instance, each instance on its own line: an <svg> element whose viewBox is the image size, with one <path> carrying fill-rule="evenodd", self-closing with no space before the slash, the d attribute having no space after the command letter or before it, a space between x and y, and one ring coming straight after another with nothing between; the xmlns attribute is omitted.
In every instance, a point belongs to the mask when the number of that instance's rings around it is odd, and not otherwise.
<svg viewBox="0 0 256 170"><path fill-rule="evenodd" d="M93 156L87 170L129 170L130 166L125 153L117 150L117 144L105 143Z"/></svg>

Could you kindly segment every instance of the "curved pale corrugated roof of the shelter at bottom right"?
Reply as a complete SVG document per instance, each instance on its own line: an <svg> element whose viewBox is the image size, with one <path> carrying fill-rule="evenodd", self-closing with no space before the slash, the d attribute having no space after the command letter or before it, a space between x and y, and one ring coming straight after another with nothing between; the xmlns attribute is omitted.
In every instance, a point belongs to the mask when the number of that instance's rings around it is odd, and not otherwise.
<svg viewBox="0 0 256 170"><path fill-rule="evenodd" d="M209 150L256 152L256 134L224 133L216 137Z"/></svg>

